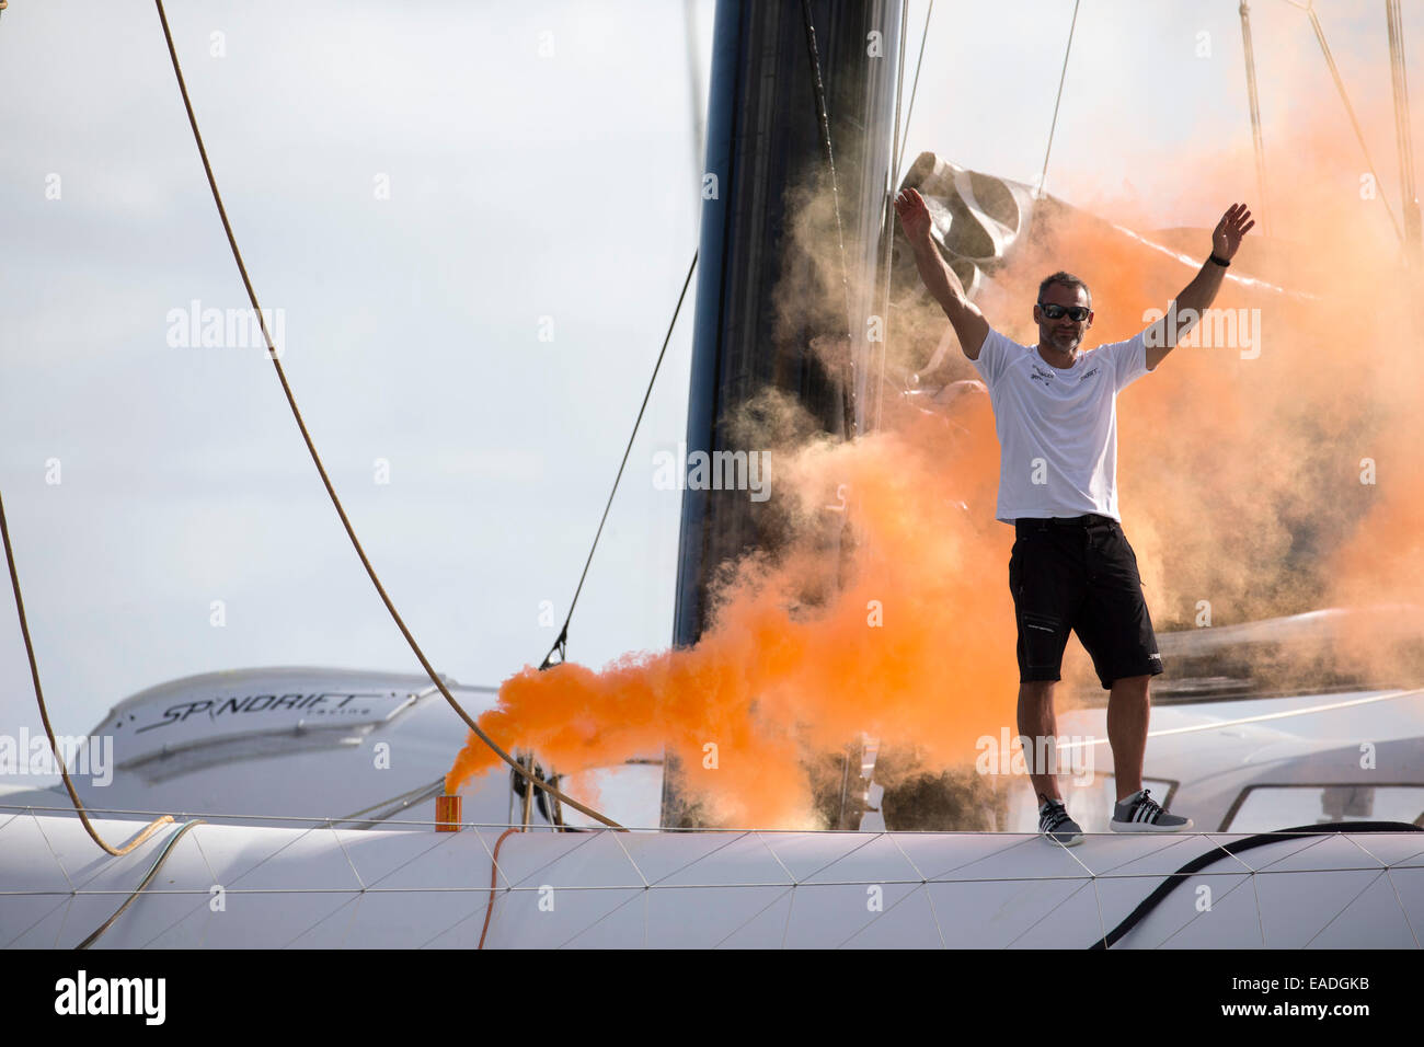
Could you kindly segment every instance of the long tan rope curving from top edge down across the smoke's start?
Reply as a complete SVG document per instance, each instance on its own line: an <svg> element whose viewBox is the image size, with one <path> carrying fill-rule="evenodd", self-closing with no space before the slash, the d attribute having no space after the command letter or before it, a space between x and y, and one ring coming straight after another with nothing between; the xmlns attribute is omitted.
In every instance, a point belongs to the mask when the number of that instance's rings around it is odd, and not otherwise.
<svg viewBox="0 0 1424 1047"><path fill-rule="evenodd" d="M302 412L296 406L296 397L292 395L292 386L288 385L286 373L282 370L282 362L278 359L276 348L272 345L272 335L268 333L266 318L262 313L261 306L258 305L256 292L252 289L252 281L248 278L246 265L244 265L242 262L242 252L238 251L238 241L232 235L232 224L228 222L228 211L226 208L222 207L222 195L218 192L218 181L216 178L214 178L212 164L208 162L208 150L202 144L202 134L198 131L198 118L194 115L192 101L188 98L188 84L184 81L182 68L178 64L178 51L174 47L172 31L168 28L168 16L164 13L164 0L154 0L154 3L158 7L158 20L162 23L164 27L164 38L168 43L168 57L172 58L174 75L178 78L178 90L182 94L182 104L184 108L188 111L188 124L189 127L192 127L192 137L194 141L198 144L198 155L202 158L202 170L208 175L208 185L212 189L212 201L214 204L218 205L218 217L222 219L224 232L228 234L228 246L232 248L232 259L238 264L238 272L242 276L242 286L246 288L248 301L252 303L252 311L253 313L256 313L258 323L262 328L262 338L266 339L268 356L272 360L272 366L276 368L278 380L281 380L282 392L286 393L286 402L292 407L292 417L296 419L296 427L302 432L302 440L306 442L306 450L310 452L312 454L312 462L316 464L316 472L322 477L322 484L325 484L326 493L332 499L332 506L336 507L336 514L340 517L342 526L346 528L346 536L352 540L352 547L356 550L356 556L360 557L362 567L365 567L366 574L370 575L370 581L376 587L376 593L380 595L382 603L386 604L386 610L390 611L392 620L394 620L396 627L400 630L400 634L406 638L406 642L410 645L410 650L420 661L422 668L424 668L426 674L430 677L430 681L437 688L440 688L440 694L444 695L444 699L450 704L450 708L454 709L456 714L460 717L460 719L466 722L470 731L476 735L476 738L488 745L490 749L496 755L498 755L500 759L503 759L511 768L518 771L521 775L525 775L525 778L534 785L537 785L540 789L544 789L545 792L557 796L564 803L568 803L568 806L574 808L575 811L581 811L590 818L602 822L604 825L612 829L621 829L622 826L614 822L612 819L605 818L592 808L584 806L571 796L565 796L553 785L535 781L533 775L527 775L524 772L524 768L518 765L518 761L510 756L510 754L501 749L494 742L493 738L490 738L484 731L480 729L480 725L476 724L474 719L470 717L470 714L466 712L464 708L460 705L460 702L454 699L454 697L446 688L444 681L440 679L434 668L426 660L424 651L420 650L420 645L416 642L416 638L410 634L410 630L406 628L406 623L402 620L400 613L396 611L396 605L390 601L390 597L386 594L384 585L380 584L380 578L376 575L376 568L370 566L370 560L366 557L366 550L362 548L360 540L356 537L356 530L352 527L350 520L346 517L346 510L342 507L340 499L336 497L336 489L332 486L332 480L326 474L326 467L322 464L320 454L316 453L316 444L312 443L310 433L306 432L306 423L302 420Z"/></svg>

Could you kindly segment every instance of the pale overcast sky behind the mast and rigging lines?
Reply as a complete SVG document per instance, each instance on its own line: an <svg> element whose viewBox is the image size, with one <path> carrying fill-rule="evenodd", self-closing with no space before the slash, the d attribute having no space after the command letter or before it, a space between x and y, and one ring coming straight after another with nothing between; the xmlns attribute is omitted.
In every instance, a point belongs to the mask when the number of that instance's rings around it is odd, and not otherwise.
<svg viewBox="0 0 1424 1047"><path fill-rule="evenodd" d="M1356 104L1387 111L1383 4L1320 7ZM298 402L387 591L461 682L498 684L553 642L696 248L692 84L713 3L692 10L169 4ZM1252 10L1267 150L1287 124L1343 123L1306 16ZM911 75L924 11L910 4ZM1250 144L1236 11L1084 0L1048 188L1213 224L1232 201L1200 198L1195 161ZM933 150L1035 181L1071 14L941 0L906 162ZM1415 97L1420 19L1405 11ZM271 363L169 345L172 311L246 301L154 6L13 0L0 97L0 490L57 731L219 668L417 672ZM1397 198L1393 130L1370 132ZM652 476L685 434L691 315L689 299L571 660L669 642L681 496ZM0 732L38 729L9 591L0 605Z"/></svg>

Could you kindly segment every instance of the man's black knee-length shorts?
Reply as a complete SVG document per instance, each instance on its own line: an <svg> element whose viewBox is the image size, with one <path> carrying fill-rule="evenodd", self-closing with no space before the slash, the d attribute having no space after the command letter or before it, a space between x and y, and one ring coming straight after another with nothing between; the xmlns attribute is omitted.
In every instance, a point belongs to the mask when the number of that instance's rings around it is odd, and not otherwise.
<svg viewBox="0 0 1424 1047"><path fill-rule="evenodd" d="M1021 681L1061 679L1069 630L1105 689L1124 677L1162 672L1138 557L1116 520L1018 520L1014 531L1008 588Z"/></svg>

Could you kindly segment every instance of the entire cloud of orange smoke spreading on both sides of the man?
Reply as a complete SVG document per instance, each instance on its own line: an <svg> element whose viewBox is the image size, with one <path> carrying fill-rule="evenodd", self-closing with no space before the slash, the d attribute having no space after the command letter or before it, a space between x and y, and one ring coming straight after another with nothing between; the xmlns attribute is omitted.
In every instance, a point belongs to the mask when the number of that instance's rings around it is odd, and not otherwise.
<svg viewBox="0 0 1424 1047"><path fill-rule="evenodd" d="M1203 608L1222 625L1424 604L1418 269L1400 264L1388 226L1361 221L1378 202L1354 192L1349 140L1280 148L1316 177L1274 187L1276 238L1253 231L1232 274L1313 298L1227 281L1215 306L1247 309L1252 325L1259 316L1256 343L1239 333L1236 345L1178 348L1119 399L1124 527L1159 632L1202 624ZM1229 172L1216 175L1205 228L1156 236L1196 265L1210 226L1255 184L1249 152L1205 170ZM1119 221L1151 228L1142 215ZM1032 343L1038 281L1059 268L1091 286L1088 345L1098 345L1146 326L1143 311L1163 309L1196 266L1064 211L994 275L980 305L997 329ZM787 301L806 292L787 289ZM907 368L923 365L946 326L931 305L897 325L891 360ZM957 352L941 370L927 383L977 377ZM994 521L997 479L981 389L934 412L887 390L880 432L773 454L789 541L736 567L693 648L629 654L600 672L525 668L481 726L568 773L666 748L716 821L766 828L809 823L802 758L860 732L914 745L930 765L971 761L977 738L1014 724L1012 531ZM850 493L843 516L826 509L840 484ZM853 538L839 585L824 584L837 570L827 519L844 520ZM806 598L816 591L823 598ZM1381 657L1378 644L1364 645L1377 637L1356 640L1340 660ZM1089 672L1071 641L1065 681L1095 688ZM494 762L471 736L447 791Z"/></svg>

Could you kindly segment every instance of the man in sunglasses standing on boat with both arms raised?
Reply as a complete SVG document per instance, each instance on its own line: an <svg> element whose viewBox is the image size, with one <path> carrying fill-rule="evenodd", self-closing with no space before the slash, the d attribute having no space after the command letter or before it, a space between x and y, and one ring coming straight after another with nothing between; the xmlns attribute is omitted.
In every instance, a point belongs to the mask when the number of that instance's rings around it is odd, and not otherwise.
<svg viewBox="0 0 1424 1047"><path fill-rule="evenodd" d="M1162 809L1142 788L1148 685L1162 672L1136 554L1118 513L1118 393L1156 370L1216 298L1226 266L1255 225L1232 205L1212 232L1212 255L1176 296L1176 309L1126 342L1082 352L1092 295L1077 276L1055 272L1038 288L1038 345L993 330L964 295L930 235L930 212L914 189L896 198L920 279L944 309L960 348L988 387L1000 443L995 519L1014 524L1008 585L1018 623L1018 732L1035 754L1055 755L1054 682L1068 632L1092 657L1108 698L1118 802L1114 832L1179 832L1192 821ZM1190 312L1189 312L1190 311ZM1041 741L1042 739L1042 741ZM1049 842L1082 842L1064 808L1052 764L1030 778L1040 799L1038 829Z"/></svg>

